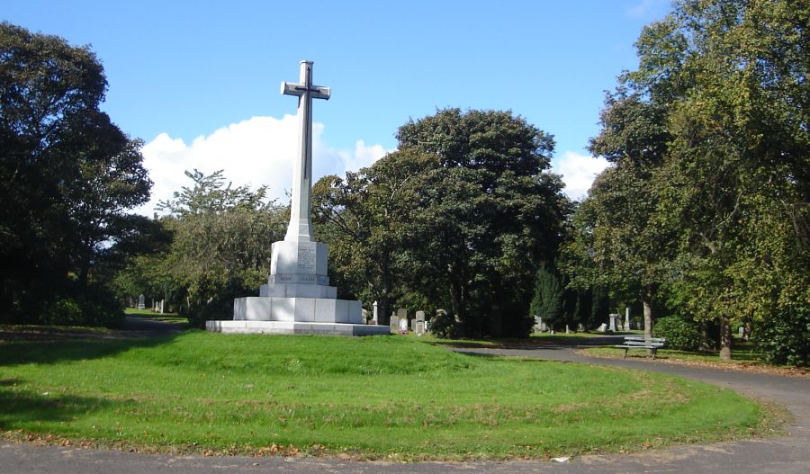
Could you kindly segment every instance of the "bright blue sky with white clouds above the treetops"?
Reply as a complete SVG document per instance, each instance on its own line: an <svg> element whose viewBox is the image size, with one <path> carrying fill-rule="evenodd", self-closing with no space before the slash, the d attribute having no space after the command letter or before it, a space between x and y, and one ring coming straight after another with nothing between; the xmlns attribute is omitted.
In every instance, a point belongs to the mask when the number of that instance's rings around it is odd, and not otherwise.
<svg viewBox="0 0 810 474"><path fill-rule="evenodd" d="M284 196L296 101L279 84L297 80L304 58L332 88L314 105L316 177L369 165L396 147L399 126L437 108L509 109L554 134L554 169L577 197L604 166L584 149L604 91L636 67L642 27L669 10L668 0L5 0L0 18L91 46L109 82L103 109L147 143L156 201L194 167Z"/></svg>

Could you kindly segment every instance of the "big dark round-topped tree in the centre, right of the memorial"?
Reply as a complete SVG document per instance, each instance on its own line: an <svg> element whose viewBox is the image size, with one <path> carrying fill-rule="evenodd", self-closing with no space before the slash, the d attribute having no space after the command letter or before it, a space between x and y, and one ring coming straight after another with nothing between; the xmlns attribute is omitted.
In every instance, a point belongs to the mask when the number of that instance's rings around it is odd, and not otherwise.
<svg viewBox="0 0 810 474"><path fill-rule="evenodd" d="M536 265L568 209L549 173L554 140L511 112L446 109L403 125L400 149L435 157L419 183L409 254L467 335L526 334Z"/></svg>

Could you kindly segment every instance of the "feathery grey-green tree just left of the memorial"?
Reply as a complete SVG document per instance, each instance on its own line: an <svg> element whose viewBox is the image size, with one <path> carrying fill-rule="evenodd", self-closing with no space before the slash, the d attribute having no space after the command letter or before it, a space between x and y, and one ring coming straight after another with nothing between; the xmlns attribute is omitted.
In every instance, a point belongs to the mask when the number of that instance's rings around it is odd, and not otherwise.
<svg viewBox="0 0 810 474"><path fill-rule="evenodd" d="M271 246L284 238L289 213L266 199L266 187L226 184L222 171L185 175L174 198L162 201L164 225L174 235L164 268L171 285L184 295L181 312L196 325L226 317L233 298L256 292L266 282ZM136 273L137 274L137 273ZM152 277L151 281L165 281Z"/></svg>

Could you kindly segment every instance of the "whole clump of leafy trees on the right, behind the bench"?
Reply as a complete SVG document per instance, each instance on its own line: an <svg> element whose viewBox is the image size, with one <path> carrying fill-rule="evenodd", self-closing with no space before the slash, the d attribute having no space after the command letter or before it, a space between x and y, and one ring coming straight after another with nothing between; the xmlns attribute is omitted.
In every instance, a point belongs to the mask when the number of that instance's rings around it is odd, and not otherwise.
<svg viewBox="0 0 810 474"><path fill-rule="evenodd" d="M788 0L676 3L644 28L591 145L613 165L575 218L589 258L574 273L716 322L724 358L744 319L774 360L810 361L784 347L810 330L808 18Z"/></svg>

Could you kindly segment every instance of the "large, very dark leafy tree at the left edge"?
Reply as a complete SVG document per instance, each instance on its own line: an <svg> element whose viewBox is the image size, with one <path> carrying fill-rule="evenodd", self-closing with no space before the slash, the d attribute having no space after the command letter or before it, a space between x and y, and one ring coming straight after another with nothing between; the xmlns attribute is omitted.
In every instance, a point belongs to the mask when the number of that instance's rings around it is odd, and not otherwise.
<svg viewBox="0 0 810 474"><path fill-rule="evenodd" d="M6 315L94 283L94 265L135 227L126 210L148 200L139 141L99 110L106 87L90 49L0 23Z"/></svg>

